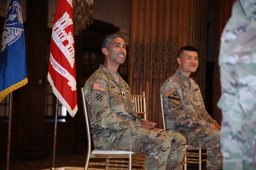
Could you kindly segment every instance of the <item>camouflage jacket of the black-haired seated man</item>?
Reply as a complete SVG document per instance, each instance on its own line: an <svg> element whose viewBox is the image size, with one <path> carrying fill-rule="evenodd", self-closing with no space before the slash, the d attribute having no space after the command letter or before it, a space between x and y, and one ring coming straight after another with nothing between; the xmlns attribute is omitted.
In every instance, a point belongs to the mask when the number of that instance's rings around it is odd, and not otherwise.
<svg viewBox="0 0 256 170"><path fill-rule="evenodd" d="M163 83L160 93L167 129L180 131L217 123L205 110L197 83L191 78L187 82L179 70Z"/></svg>

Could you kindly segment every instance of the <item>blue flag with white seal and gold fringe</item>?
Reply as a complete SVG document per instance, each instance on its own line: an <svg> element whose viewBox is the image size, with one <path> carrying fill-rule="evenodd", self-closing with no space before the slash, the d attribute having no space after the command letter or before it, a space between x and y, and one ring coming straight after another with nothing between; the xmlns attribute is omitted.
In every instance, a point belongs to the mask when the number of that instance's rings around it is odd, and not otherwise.
<svg viewBox="0 0 256 170"><path fill-rule="evenodd" d="M21 1L8 0L0 52L0 102L27 83Z"/></svg>

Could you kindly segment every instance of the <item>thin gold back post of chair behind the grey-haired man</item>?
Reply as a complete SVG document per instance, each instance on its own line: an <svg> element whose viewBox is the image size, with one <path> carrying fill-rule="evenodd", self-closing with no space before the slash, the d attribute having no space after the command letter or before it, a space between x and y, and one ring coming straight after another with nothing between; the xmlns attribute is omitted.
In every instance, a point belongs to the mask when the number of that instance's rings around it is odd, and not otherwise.
<svg viewBox="0 0 256 170"><path fill-rule="evenodd" d="M88 116L88 109L87 109L87 102L84 98L84 88L81 88L81 94L82 94L82 102L83 102L83 108L84 108L84 117L85 117L85 124L86 124L86 132L87 132L87 139L88 139L88 153L91 153L92 145L91 145L91 127L90 127L90 121Z"/></svg>

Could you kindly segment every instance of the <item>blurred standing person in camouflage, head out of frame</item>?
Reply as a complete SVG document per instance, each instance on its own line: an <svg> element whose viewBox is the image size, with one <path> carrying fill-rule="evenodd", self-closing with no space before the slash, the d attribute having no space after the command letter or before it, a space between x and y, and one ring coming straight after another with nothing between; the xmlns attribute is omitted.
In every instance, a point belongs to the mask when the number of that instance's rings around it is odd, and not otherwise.
<svg viewBox="0 0 256 170"><path fill-rule="evenodd" d="M221 36L224 170L256 169L256 0L237 0Z"/></svg>

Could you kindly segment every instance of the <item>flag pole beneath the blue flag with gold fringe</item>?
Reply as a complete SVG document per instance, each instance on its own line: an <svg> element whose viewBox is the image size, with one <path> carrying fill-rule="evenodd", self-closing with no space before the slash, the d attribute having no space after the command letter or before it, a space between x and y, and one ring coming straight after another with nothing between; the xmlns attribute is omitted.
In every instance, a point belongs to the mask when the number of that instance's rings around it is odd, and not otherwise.
<svg viewBox="0 0 256 170"><path fill-rule="evenodd" d="M8 118L8 138L7 138L6 170L10 169L12 92L10 93L10 96L9 96L8 117L9 118Z"/></svg>

